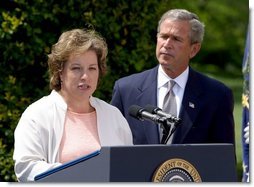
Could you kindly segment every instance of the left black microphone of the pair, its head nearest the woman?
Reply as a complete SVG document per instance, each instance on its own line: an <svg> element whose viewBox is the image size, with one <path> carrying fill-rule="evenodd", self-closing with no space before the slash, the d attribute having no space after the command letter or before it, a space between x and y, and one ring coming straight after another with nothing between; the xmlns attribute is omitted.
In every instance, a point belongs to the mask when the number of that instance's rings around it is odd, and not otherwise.
<svg viewBox="0 0 254 187"><path fill-rule="evenodd" d="M161 117L157 114L149 113L144 108L138 105L132 105L129 107L129 115L141 121L150 120L157 124L164 123L165 120L167 120L166 118Z"/></svg>

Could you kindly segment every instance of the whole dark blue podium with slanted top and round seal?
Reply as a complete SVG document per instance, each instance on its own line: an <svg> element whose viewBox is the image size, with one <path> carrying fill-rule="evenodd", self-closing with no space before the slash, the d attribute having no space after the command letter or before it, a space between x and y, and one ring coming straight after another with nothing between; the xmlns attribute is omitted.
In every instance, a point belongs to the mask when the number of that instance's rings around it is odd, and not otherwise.
<svg viewBox="0 0 254 187"><path fill-rule="evenodd" d="M46 171L38 182L237 182L232 144L102 147Z"/></svg>

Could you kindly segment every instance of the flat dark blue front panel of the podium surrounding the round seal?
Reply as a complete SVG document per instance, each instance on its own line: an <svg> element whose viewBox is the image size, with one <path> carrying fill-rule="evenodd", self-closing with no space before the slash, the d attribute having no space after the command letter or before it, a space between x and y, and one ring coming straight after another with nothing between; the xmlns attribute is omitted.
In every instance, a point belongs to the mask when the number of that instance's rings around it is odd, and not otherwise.
<svg viewBox="0 0 254 187"><path fill-rule="evenodd" d="M111 181L153 181L159 166L170 160L187 161L202 182L237 181L234 148L230 144L111 147L110 159ZM186 167L192 166L186 164Z"/></svg>

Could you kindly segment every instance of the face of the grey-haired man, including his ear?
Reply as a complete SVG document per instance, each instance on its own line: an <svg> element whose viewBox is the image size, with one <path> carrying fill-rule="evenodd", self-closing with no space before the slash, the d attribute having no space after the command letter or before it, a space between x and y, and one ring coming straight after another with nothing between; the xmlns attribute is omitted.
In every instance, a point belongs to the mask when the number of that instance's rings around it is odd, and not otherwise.
<svg viewBox="0 0 254 187"><path fill-rule="evenodd" d="M200 44L191 44L188 21L166 19L157 34L156 57L167 74L178 76L196 55Z"/></svg>

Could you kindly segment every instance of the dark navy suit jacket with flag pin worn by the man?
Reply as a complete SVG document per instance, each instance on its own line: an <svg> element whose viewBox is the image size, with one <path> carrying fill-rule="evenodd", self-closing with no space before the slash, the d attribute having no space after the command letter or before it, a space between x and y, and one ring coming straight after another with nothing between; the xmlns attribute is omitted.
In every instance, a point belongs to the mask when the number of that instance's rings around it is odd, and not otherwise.
<svg viewBox="0 0 254 187"><path fill-rule="evenodd" d="M128 114L131 105L157 106L158 66L115 82L111 104L127 119L134 144L159 144L156 124ZM217 80L190 68L173 144L235 143L232 91Z"/></svg>

